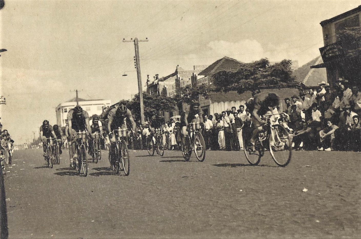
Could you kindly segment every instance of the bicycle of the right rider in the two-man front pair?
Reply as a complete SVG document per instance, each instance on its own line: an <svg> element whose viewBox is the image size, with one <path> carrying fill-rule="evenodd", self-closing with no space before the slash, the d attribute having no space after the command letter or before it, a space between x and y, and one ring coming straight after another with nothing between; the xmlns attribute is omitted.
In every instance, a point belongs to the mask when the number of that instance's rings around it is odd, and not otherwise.
<svg viewBox="0 0 361 239"><path fill-rule="evenodd" d="M116 137L116 148L115 151L115 160L111 163L113 171L118 174L119 170L124 171L125 176L128 176L130 173L130 161L129 161L129 152L127 146L127 137L128 129L127 128L118 128L113 131L113 134ZM109 161L110 161L110 152L109 152Z"/></svg>

